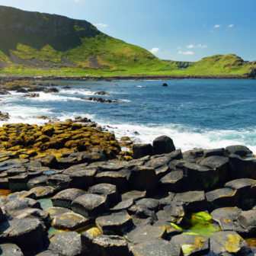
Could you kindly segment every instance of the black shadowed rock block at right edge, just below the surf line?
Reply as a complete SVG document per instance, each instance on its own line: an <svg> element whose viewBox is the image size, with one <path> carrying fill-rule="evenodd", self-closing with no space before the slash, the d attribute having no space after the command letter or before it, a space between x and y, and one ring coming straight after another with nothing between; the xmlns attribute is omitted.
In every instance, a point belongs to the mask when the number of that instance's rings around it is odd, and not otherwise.
<svg viewBox="0 0 256 256"><path fill-rule="evenodd" d="M232 180L251 178L256 180L256 159L243 160L239 155L229 155L230 174Z"/></svg>

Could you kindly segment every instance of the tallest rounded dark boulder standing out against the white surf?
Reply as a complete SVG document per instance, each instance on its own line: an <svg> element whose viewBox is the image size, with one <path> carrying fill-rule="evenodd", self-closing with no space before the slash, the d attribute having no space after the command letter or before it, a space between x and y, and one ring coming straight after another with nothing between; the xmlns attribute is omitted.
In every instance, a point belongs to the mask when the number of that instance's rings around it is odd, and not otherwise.
<svg viewBox="0 0 256 256"><path fill-rule="evenodd" d="M174 143L168 136L160 136L153 141L153 155L168 154L175 150Z"/></svg>

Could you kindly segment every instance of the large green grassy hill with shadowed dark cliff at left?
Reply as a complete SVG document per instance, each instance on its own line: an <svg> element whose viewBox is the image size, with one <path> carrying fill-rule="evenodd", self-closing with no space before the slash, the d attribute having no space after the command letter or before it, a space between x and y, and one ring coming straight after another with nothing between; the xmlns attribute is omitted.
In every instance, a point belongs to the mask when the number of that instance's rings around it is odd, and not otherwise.
<svg viewBox="0 0 256 256"><path fill-rule="evenodd" d="M101 33L87 21L0 6L0 69L168 69L139 46Z"/></svg>

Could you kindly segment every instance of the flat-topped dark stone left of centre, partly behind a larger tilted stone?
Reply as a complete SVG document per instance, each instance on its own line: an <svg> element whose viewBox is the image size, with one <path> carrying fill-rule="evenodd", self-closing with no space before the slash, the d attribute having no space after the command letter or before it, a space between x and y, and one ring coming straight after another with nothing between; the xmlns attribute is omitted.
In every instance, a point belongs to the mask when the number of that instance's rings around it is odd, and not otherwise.
<svg viewBox="0 0 256 256"><path fill-rule="evenodd" d="M97 184L93 187L90 187L88 193L104 195L107 197L110 204L119 202L117 186L113 184Z"/></svg>

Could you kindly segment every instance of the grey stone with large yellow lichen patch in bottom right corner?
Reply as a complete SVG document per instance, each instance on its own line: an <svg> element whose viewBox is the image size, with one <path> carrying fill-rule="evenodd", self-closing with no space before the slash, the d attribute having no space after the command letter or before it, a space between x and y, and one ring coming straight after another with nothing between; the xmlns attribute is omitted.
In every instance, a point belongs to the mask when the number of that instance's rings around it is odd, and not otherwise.
<svg viewBox="0 0 256 256"><path fill-rule="evenodd" d="M251 248L236 232L219 231L210 237L210 251L218 255L243 255Z"/></svg>

